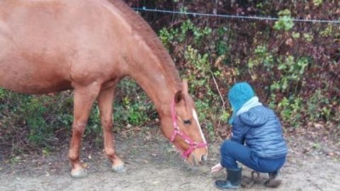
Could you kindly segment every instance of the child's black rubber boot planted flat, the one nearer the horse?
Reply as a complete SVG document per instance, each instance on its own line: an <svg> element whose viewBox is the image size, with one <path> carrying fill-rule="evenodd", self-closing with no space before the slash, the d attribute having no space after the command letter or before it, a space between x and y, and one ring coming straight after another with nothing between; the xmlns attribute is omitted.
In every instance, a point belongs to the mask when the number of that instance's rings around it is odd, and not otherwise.
<svg viewBox="0 0 340 191"><path fill-rule="evenodd" d="M227 180L216 180L215 186L220 190L238 189L241 186L242 168L227 169Z"/></svg>

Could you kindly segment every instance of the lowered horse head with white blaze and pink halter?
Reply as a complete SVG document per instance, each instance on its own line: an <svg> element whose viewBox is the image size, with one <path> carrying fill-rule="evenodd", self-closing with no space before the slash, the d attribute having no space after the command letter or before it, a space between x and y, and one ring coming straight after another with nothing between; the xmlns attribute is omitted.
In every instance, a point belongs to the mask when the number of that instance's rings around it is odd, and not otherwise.
<svg viewBox="0 0 340 191"><path fill-rule="evenodd" d="M162 125L166 137L181 151L188 163L198 165L208 157L208 144L198 122L196 105L188 94L188 83L182 82L171 103L172 127ZM166 127L165 127L166 126ZM169 130L170 129L170 130Z"/></svg>

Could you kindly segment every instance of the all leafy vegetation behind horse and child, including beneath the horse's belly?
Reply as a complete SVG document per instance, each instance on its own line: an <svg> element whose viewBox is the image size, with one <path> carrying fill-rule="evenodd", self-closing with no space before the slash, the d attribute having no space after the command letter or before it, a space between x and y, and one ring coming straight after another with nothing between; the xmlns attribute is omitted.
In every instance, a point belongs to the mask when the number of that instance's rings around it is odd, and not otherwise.
<svg viewBox="0 0 340 191"><path fill-rule="evenodd" d="M125 2L135 8L280 18L259 21L140 12L159 34L181 77L188 79L210 141L229 136L231 109L225 95L237 81L254 86L261 102L280 116L285 132L317 127L327 139L339 139L340 24L292 19L339 21L340 1ZM0 88L1 149L13 155L41 147L53 151L69 140L72 107L72 91L27 96ZM115 132L142 126L147 131L157 123L151 101L131 79L120 82L113 115ZM101 146L101 136L95 105L85 137Z"/></svg>

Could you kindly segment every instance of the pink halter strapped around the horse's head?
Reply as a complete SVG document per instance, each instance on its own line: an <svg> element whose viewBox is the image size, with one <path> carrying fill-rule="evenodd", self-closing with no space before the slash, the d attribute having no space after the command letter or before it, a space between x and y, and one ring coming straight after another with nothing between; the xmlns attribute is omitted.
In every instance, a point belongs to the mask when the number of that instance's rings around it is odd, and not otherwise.
<svg viewBox="0 0 340 191"><path fill-rule="evenodd" d="M179 125L177 123L177 117L176 117L176 112L175 112L175 100L172 100L172 103L171 103L171 117L172 117L172 123L174 125L174 131L172 133L170 141L172 143L174 143L176 135L179 134L179 136L181 136L182 139L184 139L184 141L186 141L186 143L189 144L189 149L182 153L183 158L188 158L188 156L196 148L208 146L207 143L204 143L204 142L203 143L197 143L196 141L191 140L190 137L188 137L186 134L181 132L181 130L179 129Z"/></svg>

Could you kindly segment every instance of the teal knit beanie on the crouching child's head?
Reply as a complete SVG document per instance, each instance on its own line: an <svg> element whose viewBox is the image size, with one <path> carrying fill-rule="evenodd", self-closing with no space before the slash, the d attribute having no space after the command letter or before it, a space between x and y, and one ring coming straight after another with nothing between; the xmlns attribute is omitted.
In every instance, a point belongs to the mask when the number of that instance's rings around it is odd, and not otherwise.
<svg viewBox="0 0 340 191"><path fill-rule="evenodd" d="M242 108L242 105L254 96L255 93L249 83L240 82L234 84L228 93L228 99L230 105L232 105L232 111L236 114L237 111Z"/></svg>

